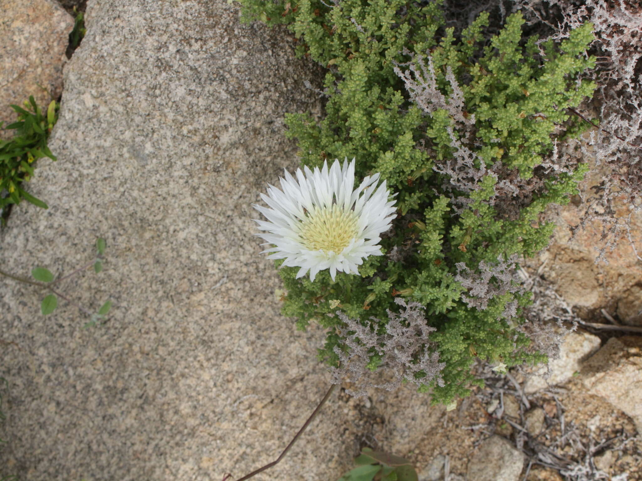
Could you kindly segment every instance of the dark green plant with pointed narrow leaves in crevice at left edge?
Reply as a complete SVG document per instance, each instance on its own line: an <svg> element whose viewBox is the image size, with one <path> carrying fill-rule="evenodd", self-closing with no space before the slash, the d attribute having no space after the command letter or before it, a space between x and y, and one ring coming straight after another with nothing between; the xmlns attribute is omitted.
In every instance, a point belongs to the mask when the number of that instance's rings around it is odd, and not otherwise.
<svg viewBox="0 0 642 481"><path fill-rule="evenodd" d="M42 157L56 160L47 146L49 133L58 119L59 104L52 100L46 112L42 111L33 96L24 102L24 108L12 105L18 114L17 121L4 127L15 130L12 139L0 140L0 209L18 205L24 199L38 207L48 208L42 200L35 198L24 189L24 183L31 180L35 162ZM3 128L3 122L0 122ZM3 223L7 212L3 212Z"/></svg>

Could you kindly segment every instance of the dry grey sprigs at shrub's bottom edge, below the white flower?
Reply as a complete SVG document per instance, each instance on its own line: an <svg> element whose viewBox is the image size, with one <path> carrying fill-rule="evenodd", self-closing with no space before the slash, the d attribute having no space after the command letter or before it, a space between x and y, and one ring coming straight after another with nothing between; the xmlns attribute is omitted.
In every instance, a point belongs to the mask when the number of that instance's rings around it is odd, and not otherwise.
<svg viewBox="0 0 642 481"><path fill-rule="evenodd" d="M388 310L390 320L383 334L377 334L370 325L363 326L341 311L336 312L345 324L337 328L337 332L345 337L349 352L335 346L334 352L339 357L340 366L331 367L331 382L341 384L345 380L358 385L357 391L346 389L352 396L367 396L365 389L368 387L392 391L404 381L421 385L435 379L438 385L444 385L439 373L445 363L439 362L438 353L431 350L429 334L436 329L428 325L424 307L418 302L406 303L403 298L395 298L395 303L403 307L403 310L398 314ZM374 318L372 320L375 323L379 321ZM368 367L372 354L381 357L381 364L376 371L371 371ZM383 384L362 380L364 377L370 378L381 369L392 374L393 380ZM418 378L415 375L422 376Z"/></svg>

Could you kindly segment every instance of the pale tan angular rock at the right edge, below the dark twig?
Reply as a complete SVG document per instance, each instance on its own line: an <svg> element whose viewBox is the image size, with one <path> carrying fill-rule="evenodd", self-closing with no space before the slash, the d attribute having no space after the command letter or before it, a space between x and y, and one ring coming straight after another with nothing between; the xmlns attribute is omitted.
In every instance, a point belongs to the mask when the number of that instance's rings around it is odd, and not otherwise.
<svg viewBox="0 0 642 481"><path fill-rule="evenodd" d="M591 394L623 410L642 433L642 337L612 337L588 359L582 380Z"/></svg>

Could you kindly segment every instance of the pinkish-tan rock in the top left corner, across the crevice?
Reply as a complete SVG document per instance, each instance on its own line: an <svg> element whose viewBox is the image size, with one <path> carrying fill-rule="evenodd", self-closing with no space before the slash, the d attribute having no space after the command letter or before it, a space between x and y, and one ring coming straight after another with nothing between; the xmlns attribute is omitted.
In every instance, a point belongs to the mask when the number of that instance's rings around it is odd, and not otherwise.
<svg viewBox="0 0 642 481"><path fill-rule="evenodd" d="M54 0L0 0L0 12L0 121L10 123L10 104L22 105L33 95L46 108L49 93L60 96L74 21Z"/></svg>

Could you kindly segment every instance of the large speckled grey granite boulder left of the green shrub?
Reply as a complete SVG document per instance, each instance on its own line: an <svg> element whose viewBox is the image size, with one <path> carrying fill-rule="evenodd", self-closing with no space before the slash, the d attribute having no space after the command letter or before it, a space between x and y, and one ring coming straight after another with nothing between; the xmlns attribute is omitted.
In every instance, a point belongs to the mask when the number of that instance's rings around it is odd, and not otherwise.
<svg viewBox="0 0 642 481"><path fill-rule="evenodd" d="M0 233L0 265L55 274L108 242L105 271L65 284L107 325L0 281L0 376L10 391L3 475L21 480L217 480L270 462L328 387L324 335L279 314L250 203L297 164L285 112L318 112L284 29L241 25L224 0L90 0L65 67L60 120ZM356 406L356 407L355 407ZM257 480L327 480L364 439L401 455L443 409L411 390L335 394ZM438 421L441 422L441 421Z"/></svg>

